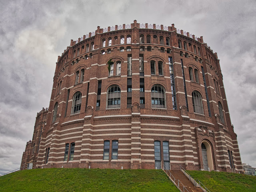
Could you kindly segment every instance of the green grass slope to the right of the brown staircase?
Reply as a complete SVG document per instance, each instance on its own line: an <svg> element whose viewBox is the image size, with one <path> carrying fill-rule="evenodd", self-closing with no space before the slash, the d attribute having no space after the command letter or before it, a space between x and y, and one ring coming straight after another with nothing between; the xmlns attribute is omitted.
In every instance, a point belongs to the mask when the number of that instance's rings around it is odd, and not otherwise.
<svg viewBox="0 0 256 192"><path fill-rule="evenodd" d="M226 172L188 171L211 192L256 192L256 176Z"/></svg>

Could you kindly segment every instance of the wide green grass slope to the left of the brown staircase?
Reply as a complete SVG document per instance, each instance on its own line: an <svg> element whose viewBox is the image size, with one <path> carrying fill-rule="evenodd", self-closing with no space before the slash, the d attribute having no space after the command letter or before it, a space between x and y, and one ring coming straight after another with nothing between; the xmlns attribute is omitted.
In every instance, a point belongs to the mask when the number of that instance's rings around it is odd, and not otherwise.
<svg viewBox="0 0 256 192"><path fill-rule="evenodd" d="M179 192L162 170L51 168L0 177L1 192Z"/></svg>

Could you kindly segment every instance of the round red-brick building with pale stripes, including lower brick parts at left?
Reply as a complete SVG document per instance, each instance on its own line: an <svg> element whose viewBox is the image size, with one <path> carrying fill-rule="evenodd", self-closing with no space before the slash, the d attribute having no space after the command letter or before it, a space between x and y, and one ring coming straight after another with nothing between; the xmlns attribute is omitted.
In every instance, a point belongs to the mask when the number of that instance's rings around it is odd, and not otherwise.
<svg viewBox="0 0 256 192"><path fill-rule="evenodd" d="M28 164L242 171L217 54L174 24L136 20L71 40Z"/></svg>

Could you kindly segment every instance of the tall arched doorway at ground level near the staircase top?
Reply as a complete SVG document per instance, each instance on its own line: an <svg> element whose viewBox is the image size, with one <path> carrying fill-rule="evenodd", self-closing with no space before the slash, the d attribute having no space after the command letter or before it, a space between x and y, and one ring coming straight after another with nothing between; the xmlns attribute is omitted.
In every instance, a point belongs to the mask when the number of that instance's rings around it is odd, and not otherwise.
<svg viewBox="0 0 256 192"><path fill-rule="evenodd" d="M210 144L206 141L203 141L201 143L201 148L202 148L202 160L203 160L204 170L205 171L208 171L209 169L210 171L214 170L213 161L212 161L212 149Z"/></svg>

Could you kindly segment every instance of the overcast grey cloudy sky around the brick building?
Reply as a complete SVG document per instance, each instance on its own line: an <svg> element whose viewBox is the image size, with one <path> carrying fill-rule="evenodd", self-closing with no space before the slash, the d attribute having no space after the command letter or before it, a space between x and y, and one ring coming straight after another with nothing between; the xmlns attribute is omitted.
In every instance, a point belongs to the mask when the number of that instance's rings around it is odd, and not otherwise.
<svg viewBox="0 0 256 192"><path fill-rule="evenodd" d="M218 53L242 162L256 167L255 0L0 0L0 174L20 167L70 40L138 23L175 24Z"/></svg>

